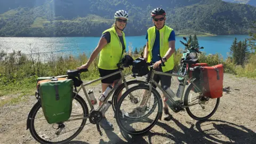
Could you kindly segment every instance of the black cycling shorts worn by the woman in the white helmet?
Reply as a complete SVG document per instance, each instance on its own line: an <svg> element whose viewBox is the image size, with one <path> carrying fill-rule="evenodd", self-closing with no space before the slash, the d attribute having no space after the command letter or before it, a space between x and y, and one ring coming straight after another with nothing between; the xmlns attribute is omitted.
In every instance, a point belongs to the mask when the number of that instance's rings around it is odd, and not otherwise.
<svg viewBox="0 0 256 144"><path fill-rule="evenodd" d="M118 71L119 69L113 69L113 70L107 70L107 69L101 69L99 68L99 73L100 73L100 77L112 74L116 71ZM107 77L105 79L101 79L101 83L105 83L105 84L113 84L115 80L121 78L120 74L115 74L113 76Z"/></svg>

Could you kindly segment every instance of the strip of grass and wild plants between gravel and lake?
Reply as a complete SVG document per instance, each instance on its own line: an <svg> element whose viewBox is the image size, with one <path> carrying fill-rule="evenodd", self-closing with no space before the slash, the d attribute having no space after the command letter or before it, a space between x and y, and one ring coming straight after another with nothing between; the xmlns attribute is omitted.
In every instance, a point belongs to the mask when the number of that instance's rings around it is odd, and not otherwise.
<svg viewBox="0 0 256 144"><path fill-rule="evenodd" d="M132 55L133 59L140 57L140 54L132 52L131 44L128 47L129 51L125 54ZM138 50L143 51L143 49ZM177 49L174 53L174 71L178 70L182 52L182 49ZM60 53L49 53L49 55L37 53L30 57L21 52L6 54L3 51L0 51L0 57L2 57L0 59L0 98L2 96L11 98L1 100L0 106L26 100L26 95L34 95L37 77L66 75L67 69L76 69L86 63L88 59L85 53L79 54L78 57L64 53L62 55ZM48 58L46 62L41 61L43 57ZM88 72L81 74L83 81L99 78L98 60L99 57L93 61ZM199 56L199 62L206 62L210 66L223 63L225 73L234 74L237 77L256 78L256 54L251 54L244 66L235 66L230 59L223 60L220 54L206 55L203 53ZM126 74L127 71L125 71ZM97 84L100 84L100 81L91 86ZM13 95L18 95L18 97L13 97Z"/></svg>

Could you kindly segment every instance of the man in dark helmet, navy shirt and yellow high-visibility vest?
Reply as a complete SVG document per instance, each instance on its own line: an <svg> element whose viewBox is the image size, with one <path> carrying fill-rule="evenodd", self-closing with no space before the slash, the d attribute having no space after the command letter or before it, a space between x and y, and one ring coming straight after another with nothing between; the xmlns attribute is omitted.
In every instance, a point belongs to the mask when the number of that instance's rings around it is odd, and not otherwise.
<svg viewBox="0 0 256 144"><path fill-rule="evenodd" d="M144 51L144 58L147 62L153 62L153 68L156 71L161 71L164 73L172 73L174 67L173 53L175 52L175 33L170 27L165 26L166 14L162 8L156 8L151 12L152 21L155 26L150 27L147 30L147 43ZM159 67L161 65L161 55L165 66ZM147 76L149 76L148 74ZM161 86L167 87L171 86L171 76L164 75L154 75L154 80L159 83L161 81ZM154 85L154 87L156 87ZM164 95L162 95L164 99ZM169 113L168 106L164 102L164 120L170 121L172 115Z"/></svg>

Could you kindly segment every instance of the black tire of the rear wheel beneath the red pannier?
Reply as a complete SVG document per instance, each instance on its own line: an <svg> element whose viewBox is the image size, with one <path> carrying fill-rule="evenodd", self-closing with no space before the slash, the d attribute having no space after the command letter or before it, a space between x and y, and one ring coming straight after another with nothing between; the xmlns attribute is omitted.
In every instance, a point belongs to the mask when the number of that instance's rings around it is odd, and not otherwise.
<svg viewBox="0 0 256 144"><path fill-rule="evenodd" d="M194 79L193 82L196 84L196 83L198 83L199 81L198 81L197 79ZM194 87L194 85L193 85L192 83L190 83L190 84L188 85L187 89L186 89L185 96L184 96L184 105L185 105L185 106L188 105L189 92L191 91L191 89L192 89L193 87ZM191 110L189 109L189 107L186 107L186 111L187 111L188 115L189 115L191 118L193 118L193 119L195 119L195 120L197 120L197 121L204 121L204 120L206 120L206 119L209 119L209 118L216 112L216 110L217 110L217 108L218 108L218 106L219 106L219 103L220 103L220 98L217 98L217 103L216 103L214 109L211 111L211 113L210 113L209 115L204 116L204 117L197 117L197 116L195 116L195 115L191 112Z"/></svg>

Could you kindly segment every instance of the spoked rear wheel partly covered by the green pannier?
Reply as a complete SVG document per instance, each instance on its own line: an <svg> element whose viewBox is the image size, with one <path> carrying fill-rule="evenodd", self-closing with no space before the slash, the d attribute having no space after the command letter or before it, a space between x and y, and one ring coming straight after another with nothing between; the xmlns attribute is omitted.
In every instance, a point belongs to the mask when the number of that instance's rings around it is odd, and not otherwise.
<svg viewBox="0 0 256 144"><path fill-rule="evenodd" d="M79 95L76 95L72 104L71 116L67 122L49 124L38 101L31 109L27 122L33 138L39 143L65 143L74 139L82 131L89 112L84 99ZM75 120L76 118L81 119ZM72 119L74 121L70 121Z"/></svg>

